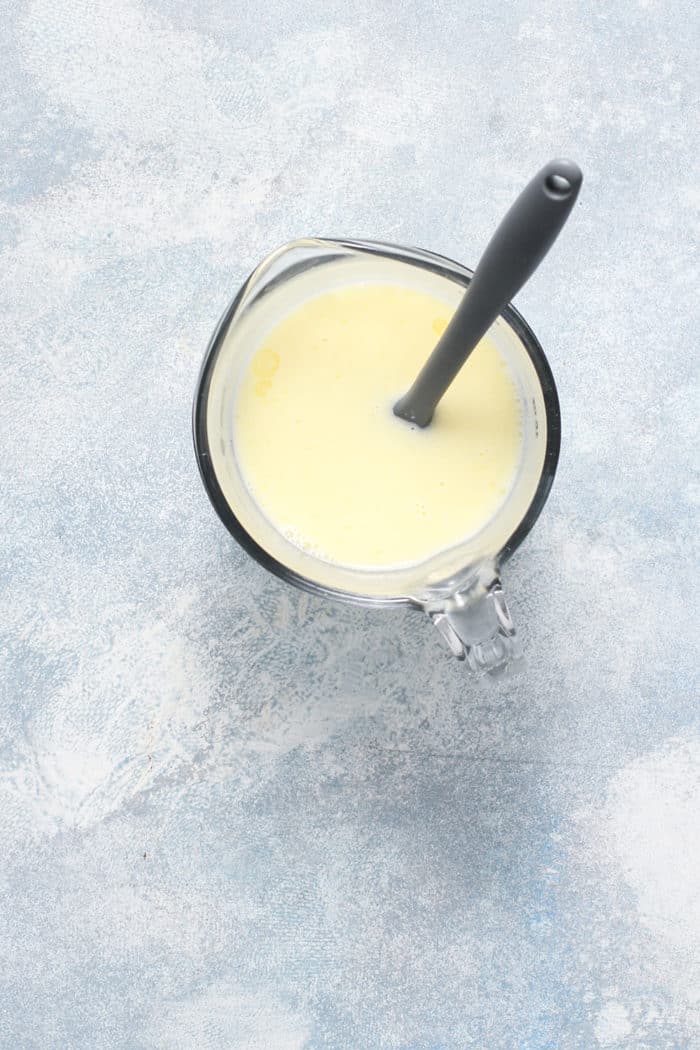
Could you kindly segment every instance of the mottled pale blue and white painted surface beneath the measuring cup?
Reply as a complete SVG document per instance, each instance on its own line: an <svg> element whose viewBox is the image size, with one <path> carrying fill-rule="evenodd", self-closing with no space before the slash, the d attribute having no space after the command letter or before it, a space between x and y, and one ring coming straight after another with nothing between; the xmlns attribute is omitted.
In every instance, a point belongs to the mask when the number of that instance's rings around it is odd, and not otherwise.
<svg viewBox="0 0 700 1050"><path fill-rule="evenodd" d="M33 0L2 16L0 1045L700 1047L693 0ZM251 564L190 399L306 233L518 298L564 449L528 660Z"/></svg>

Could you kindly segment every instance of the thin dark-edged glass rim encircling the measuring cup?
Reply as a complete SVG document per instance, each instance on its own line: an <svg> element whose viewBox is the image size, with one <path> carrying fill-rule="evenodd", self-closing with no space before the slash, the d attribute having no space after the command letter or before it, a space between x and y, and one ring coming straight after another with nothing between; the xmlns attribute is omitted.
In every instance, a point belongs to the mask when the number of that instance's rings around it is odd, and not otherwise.
<svg viewBox="0 0 700 1050"><path fill-rule="evenodd" d="M307 247L312 245L320 245L323 247L338 246L351 250L359 249L367 253L390 258L396 258L397 254L404 254L407 259L412 259L415 262L417 261L419 265L431 270L433 273L451 279L461 279L465 288L468 286L472 276L472 271L467 267L462 266L461 262L455 262L453 259L447 258L444 255L428 252L422 248L410 248L401 245L384 244L376 240L351 240L341 237L303 238L301 240L291 242L290 244L283 246L283 248L291 249L297 245L300 247ZM266 260L263 260L260 266L263 266L264 261ZM327 587L324 584L316 583L316 581L310 580L307 576L289 568L289 566L279 562L276 558L273 558L272 554L270 554L253 539L250 532L238 520L233 508L221 491L212 465L207 429L207 406L211 379L214 372L214 365L216 364L224 339L226 338L226 334L229 330L229 326L236 314L241 300L247 295L251 282L256 277L259 269L260 267L256 267L247 280L243 281L237 294L221 315L221 318L209 340L195 387L194 401L192 405L192 437L194 441L194 454L197 461L197 467L199 469L199 476L205 489L207 490L207 495L209 496L209 499L220 521L238 542L238 544L243 548L243 550L254 558L263 568L274 573L280 580L293 584L295 587L299 587L301 590L309 591L310 593L336 598L353 605L382 607L411 605L413 604L413 600L408 596L401 595L397 597L385 597L355 594L349 591L338 590L333 587ZM271 284L274 285L277 280L288 279L288 277L289 273L285 273L284 275L275 278L275 280ZM552 370L549 365L547 357L545 356L545 352L539 343L539 340L528 322L515 309L515 307L512 306L512 303L508 303L501 316L519 338L537 375L545 402L545 413L547 416L547 440L545 445L545 458L537 487L522 521L500 552L500 564L507 561L513 551L519 547L539 517L554 481L561 445L561 417L559 411L559 399L556 393L556 385L554 383Z"/></svg>

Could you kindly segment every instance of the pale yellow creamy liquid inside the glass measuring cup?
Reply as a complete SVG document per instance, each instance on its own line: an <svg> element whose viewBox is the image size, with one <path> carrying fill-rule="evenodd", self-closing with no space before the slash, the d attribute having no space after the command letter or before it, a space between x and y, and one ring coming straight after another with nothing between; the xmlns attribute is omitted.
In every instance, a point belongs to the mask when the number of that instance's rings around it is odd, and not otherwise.
<svg viewBox="0 0 700 1050"><path fill-rule="evenodd" d="M391 412L452 308L398 285L310 299L254 354L234 441L260 509L297 546L340 565L396 567L476 532L505 500L521 411L484 338L421 430Z"/></svg>

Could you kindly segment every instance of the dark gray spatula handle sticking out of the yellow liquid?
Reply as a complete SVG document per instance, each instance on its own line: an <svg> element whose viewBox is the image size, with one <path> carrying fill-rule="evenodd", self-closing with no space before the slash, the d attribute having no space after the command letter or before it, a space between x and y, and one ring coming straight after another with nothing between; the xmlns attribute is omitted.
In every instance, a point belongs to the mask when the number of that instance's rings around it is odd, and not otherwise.
<svg viewBox="0 0 700 1050"><path fill-rule="evenodd" d="M462 302L418 379L396 403L397 416L427 426L471 351L556 240L582 178L572 161L550 161L528 183L491 237Z"/></svg>

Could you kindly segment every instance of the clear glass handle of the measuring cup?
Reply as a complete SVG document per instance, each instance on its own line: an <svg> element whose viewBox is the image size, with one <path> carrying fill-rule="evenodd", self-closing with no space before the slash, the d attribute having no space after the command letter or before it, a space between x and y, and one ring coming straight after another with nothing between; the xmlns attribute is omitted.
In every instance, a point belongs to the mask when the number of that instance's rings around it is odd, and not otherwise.
<svg viewBox="0 0 700 1050"><path fill-rule="evenodd" d="M443 608L425 610L443 643L476 675L502 674L522 656L519 639L508 611L497 573L478 587L458 592Z"/></svg>

